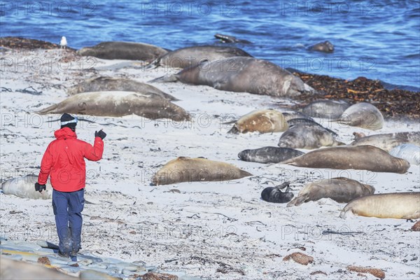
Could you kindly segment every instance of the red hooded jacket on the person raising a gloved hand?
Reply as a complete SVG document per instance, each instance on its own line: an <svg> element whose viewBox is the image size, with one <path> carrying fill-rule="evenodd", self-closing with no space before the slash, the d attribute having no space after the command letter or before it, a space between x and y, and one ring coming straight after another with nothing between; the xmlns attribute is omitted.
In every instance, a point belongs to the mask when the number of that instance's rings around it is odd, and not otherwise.
<svg viewBox="0 0 420 280"><path fill-rule="evenodd" d="M74 192L85 188L87 160L98 161L104 152L104 141L94 138L94 145L77 139L76 132L63 127L54 132L56 140L48 145L41 161L38 183L47 183L60 192Z"/></svg>

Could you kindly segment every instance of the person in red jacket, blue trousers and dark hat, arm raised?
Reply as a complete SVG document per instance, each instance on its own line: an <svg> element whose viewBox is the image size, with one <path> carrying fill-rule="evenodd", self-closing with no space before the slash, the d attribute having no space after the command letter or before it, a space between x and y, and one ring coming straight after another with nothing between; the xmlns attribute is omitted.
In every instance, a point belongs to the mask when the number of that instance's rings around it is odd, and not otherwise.
<svg viewBox="0 0 420 280"><path fill-rule="evenodd" d="M54 132L55 140L45 151L35 190L45 190L48 176L52 185L52 209L59 238L59 255L76 259L80 250L82 214L85 204L85 158L98 161L104 152L106 134L94 132L93 146L77 139L77 118L64 113L61 128Z"/></svg>

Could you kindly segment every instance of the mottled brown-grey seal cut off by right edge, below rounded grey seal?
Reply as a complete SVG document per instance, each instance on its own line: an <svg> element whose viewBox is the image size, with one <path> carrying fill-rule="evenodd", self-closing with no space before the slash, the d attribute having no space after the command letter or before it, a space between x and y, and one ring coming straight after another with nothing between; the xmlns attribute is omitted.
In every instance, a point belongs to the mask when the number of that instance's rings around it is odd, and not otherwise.
<svg viewBox="0 0 420 280"><path fill-rule="evenodd" d="M360 137L351 142L351 146L370 145L381 148L384 151L391 151L401 144L414 144L420 146L420 132L395 132L386 134L374 134L367 137Z"/></svg>

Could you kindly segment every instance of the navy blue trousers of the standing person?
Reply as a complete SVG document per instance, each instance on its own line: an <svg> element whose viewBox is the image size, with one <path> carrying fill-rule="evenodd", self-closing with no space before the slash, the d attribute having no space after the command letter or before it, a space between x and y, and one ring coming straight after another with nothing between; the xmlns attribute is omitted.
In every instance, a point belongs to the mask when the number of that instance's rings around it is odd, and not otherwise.
<svg viewBox="0 0 420 280"><path fill-rule="evenodd" d="M52 191L52 209L59 238L59 251L65 255L76 255L80 250L82 214L85 205L85 189L65 193Z"/></svg>

